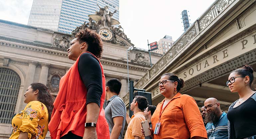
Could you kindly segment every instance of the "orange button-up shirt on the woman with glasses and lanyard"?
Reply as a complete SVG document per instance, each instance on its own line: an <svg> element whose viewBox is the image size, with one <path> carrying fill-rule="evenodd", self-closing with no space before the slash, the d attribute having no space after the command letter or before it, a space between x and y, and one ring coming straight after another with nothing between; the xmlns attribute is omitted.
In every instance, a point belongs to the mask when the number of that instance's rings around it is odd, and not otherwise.
<svg viewBox="0 0 256 139"><path fill-rule="evenodd" d="M194 136L207 138L203 120L195 100L189 95L177 93L159 119L165 99L157 105L151 118L153 130L161 122L158 135L154 139L188 139Z"/></svg>

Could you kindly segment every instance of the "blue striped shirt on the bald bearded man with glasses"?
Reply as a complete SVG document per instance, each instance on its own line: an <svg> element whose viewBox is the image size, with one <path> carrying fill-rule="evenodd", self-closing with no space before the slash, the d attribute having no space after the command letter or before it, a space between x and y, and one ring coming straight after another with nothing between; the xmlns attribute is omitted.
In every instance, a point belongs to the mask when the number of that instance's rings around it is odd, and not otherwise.
<svg viewBox="0 0 256 139"><path fill-rule="evenodd" d="M228 131L227 131L227 115L223 112L219 121L213 125L211 122L207 123L206 131L208 138L214 139L228 139Z"/></svg>

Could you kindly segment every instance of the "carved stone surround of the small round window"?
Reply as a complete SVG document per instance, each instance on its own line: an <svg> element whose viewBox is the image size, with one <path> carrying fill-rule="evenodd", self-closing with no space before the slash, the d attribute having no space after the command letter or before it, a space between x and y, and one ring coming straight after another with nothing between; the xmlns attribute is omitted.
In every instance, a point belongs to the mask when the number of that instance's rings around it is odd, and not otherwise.
<svg viewBox="0 0 256 139"><path fill-rule="evenodd" d="M52 77L53 76L59 76L60 78L65 75L65 70L63 69L56 69L56 68L50 68L47 78L47 87L50 90L51 93L58 93L59 87L54 87L52 85Z"/></svg>

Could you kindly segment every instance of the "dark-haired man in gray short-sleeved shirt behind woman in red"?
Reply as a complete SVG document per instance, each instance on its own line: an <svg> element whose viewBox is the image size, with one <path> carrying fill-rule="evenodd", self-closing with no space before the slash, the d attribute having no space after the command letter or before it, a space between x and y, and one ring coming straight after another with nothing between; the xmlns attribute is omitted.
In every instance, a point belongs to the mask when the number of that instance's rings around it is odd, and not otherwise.
<svg viewBox="0 0 256 139"><path fill-rule="evenodd" d="M122 139L126 119L126 107L118 96L121 90L118 79L110 79L106 85L105 117L109 125L110 139Z"/></svg>

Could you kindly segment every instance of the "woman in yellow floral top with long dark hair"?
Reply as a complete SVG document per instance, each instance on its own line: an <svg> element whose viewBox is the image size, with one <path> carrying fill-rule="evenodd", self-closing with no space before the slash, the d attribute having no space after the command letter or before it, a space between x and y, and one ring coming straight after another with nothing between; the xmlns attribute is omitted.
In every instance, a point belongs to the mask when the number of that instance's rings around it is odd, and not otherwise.
<svg viewBox="0 0 256 139"><path fill-rule="evenodd" d="M53 96L42 83L32 83L24 94L27 106L12 119L10 139L44 139L53 111Z"/></svg>

